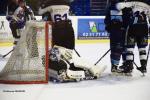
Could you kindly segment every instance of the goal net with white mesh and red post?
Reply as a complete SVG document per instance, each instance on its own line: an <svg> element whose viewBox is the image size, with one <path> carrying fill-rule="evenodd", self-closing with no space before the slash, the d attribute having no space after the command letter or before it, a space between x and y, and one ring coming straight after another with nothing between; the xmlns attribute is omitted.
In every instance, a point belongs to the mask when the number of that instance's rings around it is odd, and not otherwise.
<svg viewBox="0 0 150 100"><path fill-rule="evenodd" d="M19 42L0 72L0 83L40 84L48 82L50 28L51 25L48 22L26 23Z"/></svg>

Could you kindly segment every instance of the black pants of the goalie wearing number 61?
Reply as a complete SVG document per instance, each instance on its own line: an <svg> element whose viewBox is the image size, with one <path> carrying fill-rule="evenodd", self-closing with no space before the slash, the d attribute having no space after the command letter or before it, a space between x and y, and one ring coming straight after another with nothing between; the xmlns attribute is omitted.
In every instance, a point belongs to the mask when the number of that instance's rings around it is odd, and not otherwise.
<svg viewBox="0 0 150 100"><path fill-rule="evenodd" d="M55 22L52 25L53 45L74 49L75 36L70 20Z"/></svg>

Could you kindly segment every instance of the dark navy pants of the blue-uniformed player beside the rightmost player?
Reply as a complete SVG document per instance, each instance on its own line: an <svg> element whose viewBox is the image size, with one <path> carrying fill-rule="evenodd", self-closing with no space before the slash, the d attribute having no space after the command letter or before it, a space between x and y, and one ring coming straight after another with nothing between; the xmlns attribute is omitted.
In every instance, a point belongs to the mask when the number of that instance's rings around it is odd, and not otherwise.
<svg viewBox="0 0 150 100"><path fill-rule="evenodd" d="M111 49L111 64L119 65L121 56L123 61L125 60L125 48L124 48L125 32L120 29L112 29L110 31L110 49Z"/></svg>

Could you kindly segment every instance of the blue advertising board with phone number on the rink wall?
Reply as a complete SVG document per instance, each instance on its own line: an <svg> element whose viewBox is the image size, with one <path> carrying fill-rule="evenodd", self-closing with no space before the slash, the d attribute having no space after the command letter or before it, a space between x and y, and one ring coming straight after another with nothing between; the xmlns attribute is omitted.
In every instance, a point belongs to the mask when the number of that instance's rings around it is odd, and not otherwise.
<svg viewBox="0 0 150 100"><path fill-rule="evenodd" d="M108 38L104 19L78 19L78 39Z"/></svg>

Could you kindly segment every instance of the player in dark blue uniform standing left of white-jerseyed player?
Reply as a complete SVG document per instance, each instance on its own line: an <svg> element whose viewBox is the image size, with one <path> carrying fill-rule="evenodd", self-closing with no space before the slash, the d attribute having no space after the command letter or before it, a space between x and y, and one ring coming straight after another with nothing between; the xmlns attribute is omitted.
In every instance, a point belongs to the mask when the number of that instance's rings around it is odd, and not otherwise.
<svg viewBox="0 0 150 100"><path fill-rule="evenodd" d="M125 60L124 55L124 38L125 38L125 27L123 25L122 11L116 9L116 4L121 0L110 0L105 18L105 25L107 32L110 33L110 59L111 59L111 72L118 73L121 70L119 68L119 62L121 55Z"/></svg>

